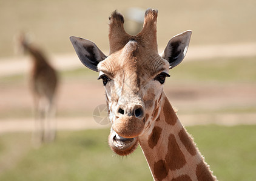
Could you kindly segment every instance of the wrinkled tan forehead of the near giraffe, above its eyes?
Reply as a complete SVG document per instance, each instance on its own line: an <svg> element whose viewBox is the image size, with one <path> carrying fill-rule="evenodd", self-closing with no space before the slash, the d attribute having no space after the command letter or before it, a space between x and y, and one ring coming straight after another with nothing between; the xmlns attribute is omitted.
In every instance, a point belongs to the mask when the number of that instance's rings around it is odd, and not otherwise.
<svg viewBox="0 0 256 181"><path fill-rule="evenodd" d="M123 49L110 54L107 59L98 65L99 71L116 75L128 75L147 79L161 71L168 72L169 63L158 54L148 51L134 41L130 41Z"/></svg>

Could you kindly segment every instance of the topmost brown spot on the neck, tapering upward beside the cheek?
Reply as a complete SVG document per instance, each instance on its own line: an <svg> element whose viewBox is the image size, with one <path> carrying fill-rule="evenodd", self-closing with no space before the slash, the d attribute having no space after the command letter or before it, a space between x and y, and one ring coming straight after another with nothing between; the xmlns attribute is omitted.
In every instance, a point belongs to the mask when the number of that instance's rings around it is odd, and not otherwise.
<svg viewBox="0 0 256 181"><path fill-rule="evenodd" d="M164 99L163 112L164 112L164 120L166 121L166 123L169 125L175 125L178 118L174 110L172 109L172 106L170 105L170 102L167 99L167 97Z"/></svg>

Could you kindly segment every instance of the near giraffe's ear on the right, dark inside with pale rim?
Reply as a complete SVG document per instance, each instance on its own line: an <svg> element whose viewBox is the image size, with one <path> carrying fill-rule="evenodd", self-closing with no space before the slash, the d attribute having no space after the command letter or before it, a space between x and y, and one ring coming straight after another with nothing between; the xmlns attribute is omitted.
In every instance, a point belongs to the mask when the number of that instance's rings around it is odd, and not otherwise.
<svg viewBox="0 0 256 181"><path fill-rule="evenodd" d="M186 56L191 34L192 31L185 31L172 37L167 43L161 56L169 62L169 69L179 65Z"/></svg>

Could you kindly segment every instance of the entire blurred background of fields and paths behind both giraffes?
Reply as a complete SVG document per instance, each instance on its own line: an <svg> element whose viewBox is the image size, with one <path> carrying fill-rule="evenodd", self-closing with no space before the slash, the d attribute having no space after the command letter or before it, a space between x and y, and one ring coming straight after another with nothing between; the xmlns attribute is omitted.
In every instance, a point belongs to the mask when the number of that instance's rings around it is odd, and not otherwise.
<svg viewBox="0 0 256 181"><path fill-rule="evenodd" d="M0 0L0 180L152 180L140 148L124 159L108 148L109 125L93 119L105 104L102 82L69 41L84 37L108 54L110 13L124 14L126 30L135 33L142 25L127 18L130 8L149 7L158 9L160 52L172 36L193 31L186 58L164 87L181 122L219 180L256 179L255 1ZM31 61L13 51L19 31L61 77L58 138L37 149L30 142Z"/></svg>

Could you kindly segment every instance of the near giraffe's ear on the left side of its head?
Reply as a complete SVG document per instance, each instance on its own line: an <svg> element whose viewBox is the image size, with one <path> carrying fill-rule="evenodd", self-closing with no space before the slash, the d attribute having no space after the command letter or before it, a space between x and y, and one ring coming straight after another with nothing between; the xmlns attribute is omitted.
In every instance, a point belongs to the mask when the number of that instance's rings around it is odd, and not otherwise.
<svg viewBox="0 0 256 181"><path fill-rule="evenodd" d="M90 40L82 39L79 37L71 36L70 41L75 48L76 54L87 68L98 72L97 65L107 56Z"/></svg>

